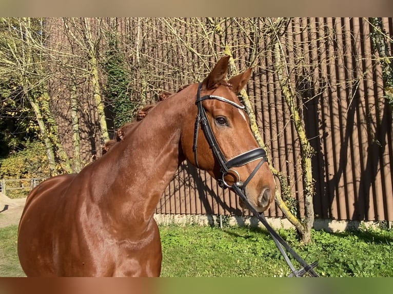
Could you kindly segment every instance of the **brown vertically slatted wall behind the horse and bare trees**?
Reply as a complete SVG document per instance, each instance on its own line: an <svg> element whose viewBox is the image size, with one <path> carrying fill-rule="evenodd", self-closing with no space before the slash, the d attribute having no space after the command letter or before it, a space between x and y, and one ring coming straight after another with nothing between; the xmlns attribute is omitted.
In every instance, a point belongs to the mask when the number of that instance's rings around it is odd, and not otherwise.
<svg viewBox="0 0 393 294"><path fill-rule="evenodd" d="M52 24L58 22L52 20ZM247 90L254 103L260 132L274 166L287 176L303 216L300 143L274 73L272 42L275 39L266 29L268 20L222 20L106 18L104 24L117 24L119 44L124 47L129 66L138 77L132 81L130 92L133 99L145 98L146 103L154 102L156 94L162 90L175 91L182 85L202 80L224 54L223 40L239 71L253 67ZM226 34L219 36L218 24ZM242 30L238 29L238 24ZM383 18L383 25L391 37L392 18ZM57 27L61 30L62 26ZM371 58L375 52L370 32L371 27L365 18L310 17L291 19L280 37L286 48L290 80L299 93L298 101L303 103L300 112L307 136L316 151L312 159L316 180L313 202L317 217L323 219L393 221L391 109L383 100L382 70ZM53 38L64 39L64 35L54 35ZM390 54L392 49L393 44L390 44ZM142 60L140 64L136 52ZM299 64L301 66L297 67ZM148 85L146 97L141 95L142 75ZM53 91L53 95L59 96L57 101L61 101L63 91L56 87ZM88 86L84 85L78 93L87 97ZM83 117L84 120L94 116L92 107L88 109L91 115ZM67 145L67 140L71 140L70 123L67 119L63 123L63 143ZM86 126L83 131L86 137L99 133ZM82 139L85 142L83 152L88 158L91 144L88 140L99 140L95 137ZM69 153L72 156L72 150ZM243 213L237 196L228 190L223 191L209 175L187 162L181 165L166 188L156 212ZM282 213L272 205L266 215L281 217Z"/></svg>

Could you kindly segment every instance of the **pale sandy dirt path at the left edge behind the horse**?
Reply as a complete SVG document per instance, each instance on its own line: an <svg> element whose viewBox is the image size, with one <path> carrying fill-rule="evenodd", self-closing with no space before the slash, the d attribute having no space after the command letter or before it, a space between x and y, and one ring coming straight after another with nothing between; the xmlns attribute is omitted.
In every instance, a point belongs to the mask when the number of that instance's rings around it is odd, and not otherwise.
<svg viewBox="0 0 393 294"><path fill-rule="evenodd" d="M10 199L0 193L0 228L19 224L26 198Z"/></svg>

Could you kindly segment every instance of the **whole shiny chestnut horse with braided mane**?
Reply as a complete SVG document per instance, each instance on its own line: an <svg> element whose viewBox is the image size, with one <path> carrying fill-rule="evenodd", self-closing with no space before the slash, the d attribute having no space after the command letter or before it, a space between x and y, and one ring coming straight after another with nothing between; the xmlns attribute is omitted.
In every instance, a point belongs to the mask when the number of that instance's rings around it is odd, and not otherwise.
<svg viewBox="0 0 393 294"><path fill-rule="evenodd" d="M185 159L225 186L246 181L244 195L252 206L258 212L269 207L276 185L237 96L251 69L226 81L228 61L221 58L203 82L156 104L80 173L49 178L31 191L18 227L18 256L27 276L160 276L153 215ZM198 132L201 111L210 135ZM225 171L217 150L229 159Z"/></svg>

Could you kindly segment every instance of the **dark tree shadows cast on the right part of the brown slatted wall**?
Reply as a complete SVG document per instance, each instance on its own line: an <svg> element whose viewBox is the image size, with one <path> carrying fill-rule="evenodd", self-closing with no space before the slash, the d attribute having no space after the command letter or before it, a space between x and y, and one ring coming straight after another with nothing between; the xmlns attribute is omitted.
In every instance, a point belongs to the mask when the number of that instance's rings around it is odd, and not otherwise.
<svg viewBox="0 0 393 294"><path fill-rule="evenodd" d="M346 215L346 216L341 216L342 219L345 219L346 217L353 220L353 221L361 221L361 220L368 220L368 214L369 214L369 201L370 201L370 189L371 185L375 182L378 172L379 172L379 163L382 162L382 155L385 152L386 149L386 136L387 133L390 131L389 126L391 125L391 111L390 107L388 104L385 102L383 106L383 114L381 120L377 121L371 121L370 116L368 113L364 113L361 116L365 117L365 121L359 122L359 112L360 111L366 111L364 104L365 99L362 100L360 97L359 93L357 92L356 89L358 89L358 83L355 83L353 85L352 89L346 88L346 93L347 97L351 97L352 93L355 93L353 95L353 99L351 100L348 110L346 112L346 125L340 125L340 128L343 128L343 132L341 134L341 142L335 142L335 146L333 148L339 148L339 153L338 156L339 158L336 160L338 162L338 165L336 167L335 174L333 174L331 177L326 176L327 170L327 164L333 164L333 162L329 163L326 162L326 154L324 153L325 148L324 145L326 146L326 143L324 140L328 136L332 136L332 131L329 131L330 128L327 125L325 120L320 120L320 125L317 123L308 123L307 120L311 121L316 121L315 119L312 119L312 117L323 117L319 111L318 104L320 104L323 108L324 101L321 101L323 99L321 94L316 94L315 90L309 90L308 95L303 95L303 98L308 97L315 97L314 99L307 100L304 102L305 107L303 108L304 112L304 118L305 118L305 125L306 125L306 133L307 137L311 138L310 139L310 144L314 148L316 155L312 157L312 175L313 178L316 180L316 195L313 198L313 203L314 207L316 208L315 213L318 214L322 219L333 219L333 215L331 212L331 207L333 204L333 201L337 201L337 190L340 185L340 180L344 176L344 173L346 171L346 166L348 164L348 158L351 157L351 154L348 153L348 150L351 149L351 144L352 142L352 136L354 132L361 132L363 130L360 130L360 124L364 123L366 124L367 128L367 150L361 151L361 160L364 160L364 168L361 171L360 175L353 175L353 181L358 181L358 191L354 191L356 195L353 195L353 201L354 203L348 203L348 197L347 196L340 196L340 197L346 197L345 203L347 206L346 211L348 212L348 206L353 205L354 210L352 215ZM306 93L307 94L307 93ZM305 97L308 96L308 97ZM369 98L370 99L370 98ZM325 102L326 103L326 102ZM334 102L330 102L334 103ZM338 102L339 103L339 102ZM340 105L338 106L340 107ZM377 111L377 116L378 116L378 110ZM331 113L330 113L331 114ZM374 118L375 119L375 118ZM369 124L374 124L375 127L375 133L370 133L370 126ZM323 131L322 137L319 134L319 128L321 128ZM336 131L337 132L337 131ZM372 132L372 131L371 131ZM335 152L332 150L331 152ZM354 150L353 152L359 152L357 150ZM363 154L363 156L362 156ZM359 164L359 162L355 163ZM350 180L350 179L347 179ZM355 185L355 183L353 183ZM356 190L356 188L355 188ZM356 197L357 196L357 197ZM338 212L339 213L339 212ZM340 216L339 216L340 218ZM357 229L359 227L353 227L353 225L358 224L359 226L360 222L354 222L351 224L351 227L348 227L347 229Z"/></svg>

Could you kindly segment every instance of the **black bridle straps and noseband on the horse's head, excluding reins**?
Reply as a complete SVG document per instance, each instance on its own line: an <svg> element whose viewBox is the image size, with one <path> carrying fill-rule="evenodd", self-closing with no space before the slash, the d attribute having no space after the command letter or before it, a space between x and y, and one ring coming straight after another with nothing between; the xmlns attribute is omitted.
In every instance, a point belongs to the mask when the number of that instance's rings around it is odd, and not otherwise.
<svg viewBox="0 0 393 294"><path fill-rule="evenodd" d="M252 177L258 172L262 164L267 161L266 159L266 152L262 148L256 148L252 149L250 151L247 151L245 153L242 153L238 156L235 156L229 160L226 160L224 154L222 153L220 146L217 143L217 140L214 137L213 131L211 130L210 123L207 119L205 109L202 106L202 101L206 99L216 99L225 103L230 104L231 106L238 108L238 109L244 109L243 105L239 105L231 100L228 100L227 98L221 97L221 96L215 96L215 95L205 95L201 97L201 88L202 88L202 83L199 84L198 86L198 92L197 92L197 101L195 104L197 104L198 107L198 114L197 118L195 119L195 131L194 131L194 144L193 144L193 151L194 151L194 160L195 160L195 165L199 167L198 165L198 133L199 133L199 126L202 124L202 129L205 133L206 139L209 143L210 148L213 151L213 154L215 158L220 163L221 166L221 179L218 179L218 183L222 188L229 188L233 187L233 185L237 186L238 188L241 188L241 190L244 192L244 189L246 185L249 183L249 181L252 179ZM239 174L233 170L233 167L239 167L246 165L247 163L261 159L261 161L257 164L255 169L252 171L252 173L248 176L248 178L242 182L240 180ZM231 171L234 174L238 176L237 181L230 186L225 182L224 177L228 174L228 172Z"/></svg>

